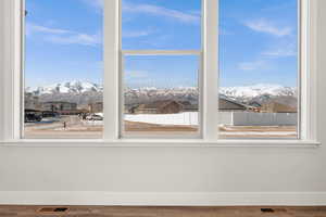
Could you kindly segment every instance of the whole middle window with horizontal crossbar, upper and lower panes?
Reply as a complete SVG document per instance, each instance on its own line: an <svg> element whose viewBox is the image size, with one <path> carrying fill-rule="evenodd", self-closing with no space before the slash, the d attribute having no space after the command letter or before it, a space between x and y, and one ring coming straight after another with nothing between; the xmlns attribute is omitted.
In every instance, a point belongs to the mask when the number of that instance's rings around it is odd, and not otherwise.
<svg viewBox="0 0 326 217"><path fill-rule="evenodd" d="M123 0L121 46L121 136L199 136L201 0Z"/></svg>

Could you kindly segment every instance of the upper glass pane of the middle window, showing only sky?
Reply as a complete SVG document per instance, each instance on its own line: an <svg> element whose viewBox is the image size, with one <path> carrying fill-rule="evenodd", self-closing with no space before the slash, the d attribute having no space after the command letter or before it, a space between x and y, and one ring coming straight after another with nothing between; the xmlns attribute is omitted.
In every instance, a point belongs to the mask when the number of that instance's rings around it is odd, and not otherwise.
<svg viewBox="0 0 326 217"><path fill-rule="evenodd" d="M201 0L123 0L125 50L198 50Z"/></svg>

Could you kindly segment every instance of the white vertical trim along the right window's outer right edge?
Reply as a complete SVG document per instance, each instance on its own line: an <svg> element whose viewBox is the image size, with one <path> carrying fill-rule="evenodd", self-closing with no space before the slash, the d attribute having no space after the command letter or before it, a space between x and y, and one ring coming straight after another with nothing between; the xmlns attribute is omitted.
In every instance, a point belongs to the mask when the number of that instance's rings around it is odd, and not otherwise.
<svg viewBox="0 0 326 217"><path fill-rule="evenodd" d="M316 1L300 1L300 128L302 140L316 140Z"/></svg>

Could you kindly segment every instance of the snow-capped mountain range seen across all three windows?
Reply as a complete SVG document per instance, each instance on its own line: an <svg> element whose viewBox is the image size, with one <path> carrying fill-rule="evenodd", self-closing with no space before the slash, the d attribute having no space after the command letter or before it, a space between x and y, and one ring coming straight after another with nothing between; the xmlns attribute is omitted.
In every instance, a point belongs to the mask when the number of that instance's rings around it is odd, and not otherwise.
<svg viewBox="0 0 326 217"><path fill-rule="evenodd" d="M50 86L26 88L26 92L38 95L40 101L70 101L78 104L88 104L102 100L103 87L88 81L66 81ZM297 88L279 85L259 84L242 87L222 87L222 97L241 103L268 103L271 101L297 106ZM198 103L199 91L195 87L178 88L125 88L125 103L146 103L156 100L174 99Z"/></svg>

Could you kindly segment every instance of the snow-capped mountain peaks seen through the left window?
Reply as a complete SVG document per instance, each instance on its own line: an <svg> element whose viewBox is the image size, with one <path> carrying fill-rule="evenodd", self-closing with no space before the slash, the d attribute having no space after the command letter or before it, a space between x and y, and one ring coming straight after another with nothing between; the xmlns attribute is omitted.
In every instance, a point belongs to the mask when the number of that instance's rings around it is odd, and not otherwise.
<svg viewBox="0 0 326 217"><path fill-rule="evenodd" d="M97 84L88 81L67 81L58 82L50 86L26 88L26 92L32 92L37 95L55 94L55 93L84 93L84 92L101 92L103 88Z"/></svg>

